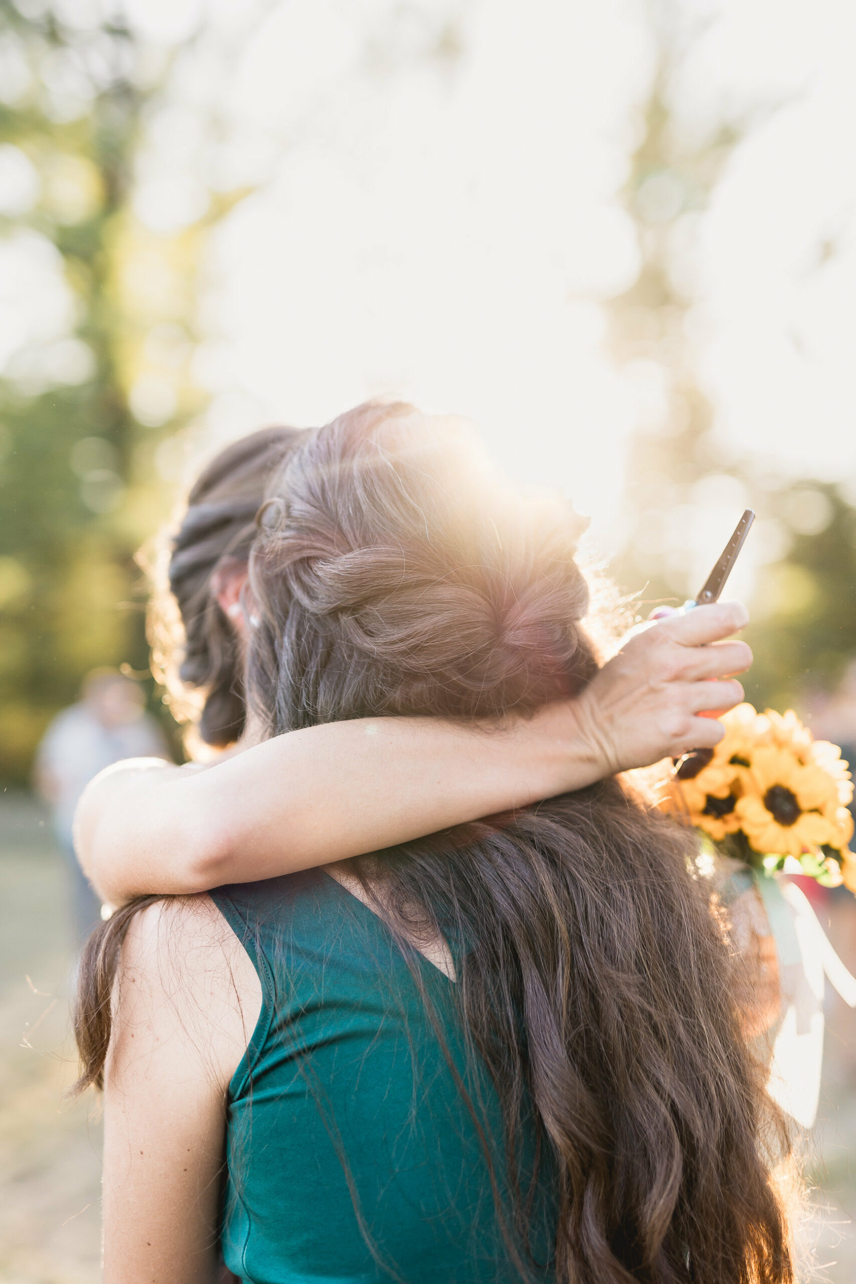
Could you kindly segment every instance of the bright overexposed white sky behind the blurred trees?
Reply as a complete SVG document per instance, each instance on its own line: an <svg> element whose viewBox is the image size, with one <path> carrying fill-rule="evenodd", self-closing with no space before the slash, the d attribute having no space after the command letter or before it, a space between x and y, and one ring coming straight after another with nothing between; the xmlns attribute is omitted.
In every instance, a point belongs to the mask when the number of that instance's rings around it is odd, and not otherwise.
<svg viewBox="0 0 856 1284"><path fill-rule="evenodd" d="M76 14L86 3L64 0ZM472 417L518 479L593 514L608 547L628 434L646 412L644 389L604 353L602 300L638 261L616 193L652 73L652 6L113 3L155 44L198 32L148 122L141 222L175 232L204 211L208 186L259 185L203 267L194 377L212 401L193 458L263 422L318 424L398 393ZM852 3L678 0L671 12L699 31L674 87L681 128L701 136L723 112L778 105L738 146L685 266L719 431L784 473L852 479ZM461 56L426 56L452 19ZM4 164L19 167L0 155L0 178ZM9 199L26 205L27 173L12 178ZM835 253L819 266L824 241ZM23 308L62 372L81 353L63 348L69 318L51 302L45 245L30 258L0 249L17 265L0 288L0 360ZM19 307L4 312L4 298ZM157 393L139 389L137 403Z"/></svg>

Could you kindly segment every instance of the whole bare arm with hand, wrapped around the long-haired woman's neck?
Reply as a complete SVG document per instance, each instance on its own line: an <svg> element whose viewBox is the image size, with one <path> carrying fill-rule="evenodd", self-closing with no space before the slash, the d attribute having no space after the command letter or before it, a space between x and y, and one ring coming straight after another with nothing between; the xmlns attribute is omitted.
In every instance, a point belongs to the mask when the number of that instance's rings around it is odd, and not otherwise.
<svg viewBox="0 0 856 1284"><path fill-rule="evenodd" d="M699 710L732 707L748 668L739 603L634 637L578 700L462 725L375 718L291 732L204 770L149 760L98 777L77 819L81 863L119 904L270 878L584 788L716 743ZM712 645L710 645L712 643Z"/></svg>

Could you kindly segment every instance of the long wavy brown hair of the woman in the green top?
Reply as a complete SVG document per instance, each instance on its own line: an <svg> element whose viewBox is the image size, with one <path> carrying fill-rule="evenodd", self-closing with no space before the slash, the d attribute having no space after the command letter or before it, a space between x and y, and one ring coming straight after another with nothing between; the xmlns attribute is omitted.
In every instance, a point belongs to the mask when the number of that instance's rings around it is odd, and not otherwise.
<svg viewBox="0 0 856 1284"><path fill-rule="evenodd" d="M270 736L390 714L495 720L597 670L574 521L502 487L454 424L358 407L290 455L271 496L246 668ZM563 1284L793 1279L770 1168L787 1141L694 858L611 778L349 863L406 954L420 936L452 949L470 1055L502 1106L494 1192L521 1279L544 1180ZM132 913L85 964L85 1062ZM533 1131L534 1175L520 1161ZM495 1153L485 1143L488 1165Z"/></svg>

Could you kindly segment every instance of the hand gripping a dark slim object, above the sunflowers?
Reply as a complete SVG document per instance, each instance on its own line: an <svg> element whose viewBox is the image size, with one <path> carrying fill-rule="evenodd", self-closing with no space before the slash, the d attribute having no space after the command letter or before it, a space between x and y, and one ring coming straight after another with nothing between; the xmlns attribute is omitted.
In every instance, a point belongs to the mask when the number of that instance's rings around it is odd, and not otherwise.
<svg viewBox="0 0 856 1284"><path fill-rule="evenodd" d="M716 602L629 636L575 702L579 732L604 774L719 743L721 723L699 715L743 700L733 675L749 668L752 651L732 634L747 621L740 602Z"/></svg>

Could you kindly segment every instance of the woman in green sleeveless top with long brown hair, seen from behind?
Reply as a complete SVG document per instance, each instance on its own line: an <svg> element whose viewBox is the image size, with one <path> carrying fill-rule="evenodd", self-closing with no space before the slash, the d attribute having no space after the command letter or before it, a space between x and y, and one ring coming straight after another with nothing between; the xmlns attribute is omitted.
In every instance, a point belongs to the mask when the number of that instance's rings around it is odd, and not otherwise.
<svg viewBox="0 0 856 1284"><path fill-rule="evenodd" d="M312 434L261 523L244 605L267 745L524 718L599 681L567 520L409 407ZM706 610L658 628L696 650ZM697 709L729 702L707 692ZM108 1281L213 1279L225 1129L221 1229L246 1280L791 1279L688 837L610 776L330 873L128 907L94 942L89 1079L127 933Z"/></svg>

